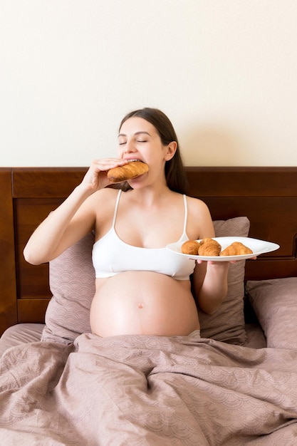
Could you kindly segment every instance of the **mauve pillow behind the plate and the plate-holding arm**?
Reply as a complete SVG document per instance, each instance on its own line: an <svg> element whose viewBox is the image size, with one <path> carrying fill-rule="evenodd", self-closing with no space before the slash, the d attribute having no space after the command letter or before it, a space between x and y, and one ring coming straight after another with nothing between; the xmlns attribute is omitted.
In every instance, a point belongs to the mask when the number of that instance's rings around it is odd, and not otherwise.
<svg viewBox="0 0 297 446"><path fill-rule="evenodd" d="M247 217L214 221L216 237L247 237L250 222ZM199 312L202 338L243 345L246 342L244 328L244 271L245 261L230 264L228 293L218 310L212 314Z"/></svg>

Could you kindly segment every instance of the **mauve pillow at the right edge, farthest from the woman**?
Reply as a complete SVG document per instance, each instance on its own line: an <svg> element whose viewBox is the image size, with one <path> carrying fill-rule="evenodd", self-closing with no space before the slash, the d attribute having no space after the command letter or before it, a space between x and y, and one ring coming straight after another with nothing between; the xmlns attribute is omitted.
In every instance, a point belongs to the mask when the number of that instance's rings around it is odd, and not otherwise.
<svg viewBox="0 0 297 446"><path fill-rule="evenodd" d="M296 348L297 277L247 281L251 306L270 348Z"/></svg>

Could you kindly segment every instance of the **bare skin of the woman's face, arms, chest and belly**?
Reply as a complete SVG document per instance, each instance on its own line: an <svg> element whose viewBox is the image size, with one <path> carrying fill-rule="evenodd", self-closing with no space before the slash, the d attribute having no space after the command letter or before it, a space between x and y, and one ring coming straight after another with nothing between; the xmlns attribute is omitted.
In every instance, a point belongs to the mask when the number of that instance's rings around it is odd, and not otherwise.
<svg viewBox="0 0 297 446"><path fill-rule="evenodd" d="M174 156L176 142L162 145L155 127L142 118L130 118L120 129L118 158L95 160L83 182L36 229L24 250L32 264L55 258L95 229L96 241L113 222L117 190L106 189L107 171L128 159L140 159L149 172L130 181L132 190L120 197L115 230L135 247L163 248L177 242L184 224L182 195L165 180L165 162ZM189 239L214 237L212 218L199 199L187 197ZM213 313L227 290L228 262L202 262L194 269L195 298ZM199 329L197 306L190 281L152 271L126 271L96 279L90 324L98 336L153 334L187 335Z"/></svg>

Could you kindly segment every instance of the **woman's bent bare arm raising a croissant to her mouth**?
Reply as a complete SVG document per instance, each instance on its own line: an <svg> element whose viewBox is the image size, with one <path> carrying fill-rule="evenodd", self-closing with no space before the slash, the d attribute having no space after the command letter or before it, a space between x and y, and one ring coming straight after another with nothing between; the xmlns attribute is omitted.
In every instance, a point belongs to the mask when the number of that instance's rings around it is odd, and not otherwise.
<svg viewBox="0 0 297 446"><path fill-rule="evenodd" d="M24 249L28 263L37 265L55 259L94 228L95 206L92 195L109 184L107 171L125 162L110 158L92 163L80 185L31 235Z"/></svg>

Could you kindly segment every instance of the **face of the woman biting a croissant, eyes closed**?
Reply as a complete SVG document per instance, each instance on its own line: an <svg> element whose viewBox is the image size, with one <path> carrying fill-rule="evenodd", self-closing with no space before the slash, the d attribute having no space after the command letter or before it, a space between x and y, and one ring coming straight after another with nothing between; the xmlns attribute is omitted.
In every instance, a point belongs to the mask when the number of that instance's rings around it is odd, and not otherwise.
<svg viewBox="0 0 297 446"><path fill-rule="evenodd" d="M175 144L175 145L174 145ZM173 142L174 152L176 143ZM143 118L129 118L118 135L118 155L125 160L141 160L150 167L165 165L172 155L172 143L162 145L154 125Z"/></svg>

